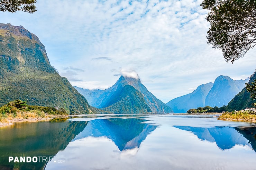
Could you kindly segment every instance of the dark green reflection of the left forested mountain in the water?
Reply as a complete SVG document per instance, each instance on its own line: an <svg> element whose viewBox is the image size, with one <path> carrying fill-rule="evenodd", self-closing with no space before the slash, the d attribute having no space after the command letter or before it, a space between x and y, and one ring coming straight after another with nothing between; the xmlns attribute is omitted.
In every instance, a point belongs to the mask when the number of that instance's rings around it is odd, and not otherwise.
<svg viewBox="0 0 256 170"><path fill-rule="evenodd" d="M27 122L0 128L0 169L43 169L45 162L8 163L8 157L53 157L87 122Z"/></svg>

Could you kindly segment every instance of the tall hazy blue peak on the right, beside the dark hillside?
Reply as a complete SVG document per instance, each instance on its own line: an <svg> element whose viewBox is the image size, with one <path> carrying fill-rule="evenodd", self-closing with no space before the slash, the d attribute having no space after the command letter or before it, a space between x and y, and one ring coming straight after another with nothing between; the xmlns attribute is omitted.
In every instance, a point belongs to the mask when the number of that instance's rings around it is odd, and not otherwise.
<svg viewBox="0 0 256 170"><path fill-rule="evenodd" d="M241 84L244 84L243 86ZM245 87L245 81L219 76L214 81L213 87L205 98L205 106L222 107L235 97Z"/></svg>

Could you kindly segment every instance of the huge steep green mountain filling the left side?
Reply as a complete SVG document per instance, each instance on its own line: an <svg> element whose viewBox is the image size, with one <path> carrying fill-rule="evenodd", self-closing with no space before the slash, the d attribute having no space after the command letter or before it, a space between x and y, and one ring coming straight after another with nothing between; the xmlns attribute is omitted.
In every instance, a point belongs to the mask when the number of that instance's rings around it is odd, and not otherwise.
<svg viewBox="0 0 256 170"><path fill-rule="evenodd" d="M16 99L91 112L86 99L51 66L38 37L22 26L0 23L0 105Z"/></svg>

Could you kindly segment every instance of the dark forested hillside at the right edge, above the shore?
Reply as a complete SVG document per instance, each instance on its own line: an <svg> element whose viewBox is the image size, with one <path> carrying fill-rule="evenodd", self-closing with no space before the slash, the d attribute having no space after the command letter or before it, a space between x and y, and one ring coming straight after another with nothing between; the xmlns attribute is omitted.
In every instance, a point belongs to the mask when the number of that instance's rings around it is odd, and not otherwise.
<svg viewBox="0 0 256 170"><path fill-rule="evenodd" d="M250 77L249 83L253 82L256 79L256 71L253 73L253 75ZM241 110L245 108L251 108L252 103L256 103L256 99L252 100L250 98L250 93L246 90L246 88L243 88L241 92L239 92L229 103L228 103L228 110Z"/></svg>

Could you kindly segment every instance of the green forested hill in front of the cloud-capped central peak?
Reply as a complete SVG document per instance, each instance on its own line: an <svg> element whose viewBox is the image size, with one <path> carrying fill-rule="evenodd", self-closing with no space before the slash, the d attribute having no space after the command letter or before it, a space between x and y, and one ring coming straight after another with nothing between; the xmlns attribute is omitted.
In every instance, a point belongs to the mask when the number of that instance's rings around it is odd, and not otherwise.
<svg viewBox="0 0 256 170"><path fill-rule="evenodd" d="M143 95L130 85L124 86L110 101L102 110L123 114L152 112Z"/></svg>

